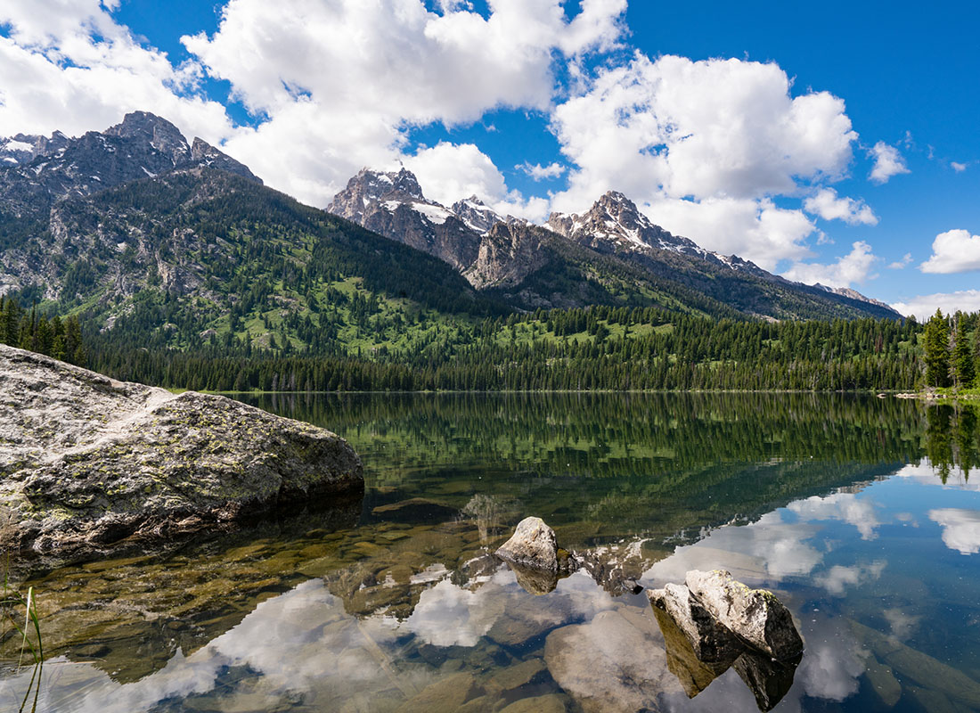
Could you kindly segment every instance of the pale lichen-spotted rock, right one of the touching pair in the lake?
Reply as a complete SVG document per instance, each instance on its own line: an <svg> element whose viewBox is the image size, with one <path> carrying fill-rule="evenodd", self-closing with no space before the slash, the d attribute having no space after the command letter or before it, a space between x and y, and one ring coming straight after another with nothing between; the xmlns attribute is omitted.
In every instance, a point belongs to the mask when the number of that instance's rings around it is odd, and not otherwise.
<svg viewBox="0 0 980 713"><path fill-rule="evenodd" d="M771 591L736 582L724 570L692 570L685 582L711 616L760 651L780 661L803 652L793 616Z"/></svg>

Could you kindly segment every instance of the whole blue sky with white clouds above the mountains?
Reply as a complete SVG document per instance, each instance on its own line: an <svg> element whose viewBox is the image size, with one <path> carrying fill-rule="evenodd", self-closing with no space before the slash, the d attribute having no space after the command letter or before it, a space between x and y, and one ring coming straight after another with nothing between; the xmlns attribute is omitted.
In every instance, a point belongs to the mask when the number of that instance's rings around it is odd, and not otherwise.
<svg viewBox="0 0 980 713"><path fill-rule="evenodd" d="M399 163L436 200L534 220L619 189L791 279L980 309L972 5L4 6L0 135L146 109L321 206Z"/></svg>

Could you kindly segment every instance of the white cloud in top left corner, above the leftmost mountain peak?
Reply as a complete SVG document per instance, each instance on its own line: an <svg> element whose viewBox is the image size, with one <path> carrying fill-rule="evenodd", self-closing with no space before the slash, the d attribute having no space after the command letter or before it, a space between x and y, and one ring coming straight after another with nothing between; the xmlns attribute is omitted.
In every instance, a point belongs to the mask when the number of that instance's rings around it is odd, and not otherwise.
<svg viewBox="0 0 980 713"><path fill-rule="evenodd" d="M0 5L0 135L101 130L128 111L166 116L189 135L218 142L224 107L197 96L200 67L173 67L140 46L98 0L9 0Z"/></svg>

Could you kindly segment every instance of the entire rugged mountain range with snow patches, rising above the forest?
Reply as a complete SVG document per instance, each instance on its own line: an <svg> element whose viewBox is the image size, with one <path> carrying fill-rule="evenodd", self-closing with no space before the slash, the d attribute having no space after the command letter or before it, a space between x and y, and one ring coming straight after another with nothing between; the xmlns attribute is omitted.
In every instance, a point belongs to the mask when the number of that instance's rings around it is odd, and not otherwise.
<svg viewBox="0 0 980 713"><path fill-rule="evenodd" d="M280 346L368 348L369 333L395 343L438 315L598 304L899 317L705 250L615 192L535 226L476 196L439 205L405 169L366 169L326 211L304 206L146 112L74 138L0 139L0 293L11 292L167 346L223 335L261 347L278 334Z"/></svg>

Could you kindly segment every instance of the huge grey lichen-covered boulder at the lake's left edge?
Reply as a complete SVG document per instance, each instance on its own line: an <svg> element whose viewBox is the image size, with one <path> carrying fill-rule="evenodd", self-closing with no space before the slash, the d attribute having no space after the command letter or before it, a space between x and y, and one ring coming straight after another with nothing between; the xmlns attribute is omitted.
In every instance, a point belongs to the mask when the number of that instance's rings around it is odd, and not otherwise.
<svg viewBox="0 0 980 713"><path fill-rule="evenodd" d="M341 437L0 345L0 546L67 553L364 490Z"/></svg>

